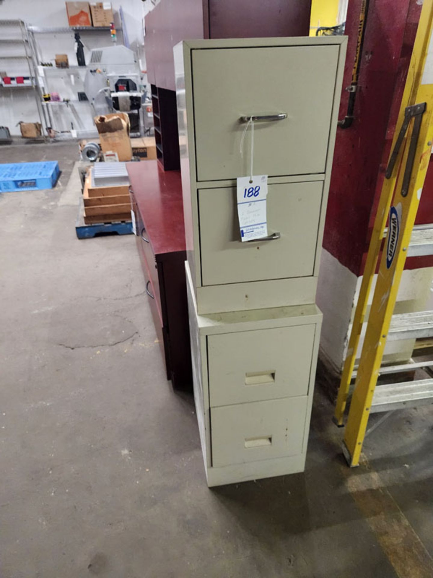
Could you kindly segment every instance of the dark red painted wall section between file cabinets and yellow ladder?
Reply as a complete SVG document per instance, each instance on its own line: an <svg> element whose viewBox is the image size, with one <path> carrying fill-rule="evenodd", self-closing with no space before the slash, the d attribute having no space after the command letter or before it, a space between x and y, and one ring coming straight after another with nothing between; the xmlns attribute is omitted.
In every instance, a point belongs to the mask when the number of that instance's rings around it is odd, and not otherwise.
<svg viewBox="0 0 433 578"><path fill-rule="evenodd" d="M416 0L370 0L355 120L348 129L337 128L323 246L355 275L362 272L394 91L402 82L401 58L407 61L404 38L408 10L415 3ZM349 2L343 87L350 84L360 5L361 0ZM340 118L345 116L347 101L348 92L343 90Z"/></svg>

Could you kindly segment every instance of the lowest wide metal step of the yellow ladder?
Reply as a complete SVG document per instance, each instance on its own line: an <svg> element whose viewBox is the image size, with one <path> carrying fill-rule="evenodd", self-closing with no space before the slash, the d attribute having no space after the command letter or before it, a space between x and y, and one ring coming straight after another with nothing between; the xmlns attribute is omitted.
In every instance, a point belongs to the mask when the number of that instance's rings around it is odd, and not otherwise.
<svg viewBox="0 0 433 578"><path fill-rule="evenodd" d="M433 403L433 379L389 383L377 386L370 413L389 412Z"/></svg>

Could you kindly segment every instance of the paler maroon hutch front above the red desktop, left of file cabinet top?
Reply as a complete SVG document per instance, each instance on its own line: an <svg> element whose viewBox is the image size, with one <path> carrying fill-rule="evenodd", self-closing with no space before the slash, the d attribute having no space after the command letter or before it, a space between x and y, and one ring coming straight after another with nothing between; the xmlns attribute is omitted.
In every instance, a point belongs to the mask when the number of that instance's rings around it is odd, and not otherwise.
<svg viewBox="0 0 433 578"><path fill-rule="evenodd" d="M204 38L202 0L161 0L145 17L147 79L159 88L176 90L173 46Z"/></svg>

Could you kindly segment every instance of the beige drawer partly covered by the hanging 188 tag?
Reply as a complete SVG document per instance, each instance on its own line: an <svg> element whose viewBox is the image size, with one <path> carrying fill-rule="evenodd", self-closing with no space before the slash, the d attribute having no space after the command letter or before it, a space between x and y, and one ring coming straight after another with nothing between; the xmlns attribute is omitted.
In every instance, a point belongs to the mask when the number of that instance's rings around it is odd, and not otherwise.
<svg viewBox="0 0 433 578"><path fill-rule="evenodd" d="M199 190L202 284L221 285L312 276L323 181L268 186L268 234L241 242L236 188Z"/></svg>

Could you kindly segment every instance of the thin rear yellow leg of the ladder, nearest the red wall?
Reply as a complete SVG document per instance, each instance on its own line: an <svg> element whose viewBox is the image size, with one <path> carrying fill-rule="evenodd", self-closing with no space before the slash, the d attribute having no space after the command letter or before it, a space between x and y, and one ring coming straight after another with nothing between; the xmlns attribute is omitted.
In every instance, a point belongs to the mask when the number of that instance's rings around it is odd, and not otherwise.
<svg viewBox="0 0 433 578"><path fill-rule="evenodd" d="M414 105L416 98L416 88L421 80L423 74L425 54L427 53L426 39L430 39L431 31L431 12L432 0L425 0L423 9L421 10L420 21L418 24L417 34L413 45L412 56L410 57L410 64L404 92L401 99L400 110L398 113L396 126L402 126L405 119L406 106ZM397 143L398 133L394 132L393 142L391 144L391 155ZM407 135L404 137L402 146L398 151L395 161L401 162L401 158L405 150L405 141ZM335 412L333 421L339 427L343 427L343 417L346 409L346 403L349 394L350 381L354 364L356 361L356 353L359 345L361 330L363 328L365 313L367 312L368 296L371 291L372 281L374 278L376 264L380 253L380 247L383 239L383 232L386 228L387 218L391 206L391 200L394 194L394 188L397 183L397 171L393 171L393 175L389 179L385 179L382 184L382 191L380 192L379 205L376 211L374 220L374 227L369 242L367 260L365 261L363 279L361 281L359 298L353 318L352 331L350 332L348 351L344 362L344 368L341 376L341 382L338 390L337 403L335 405Z"/></svg>

